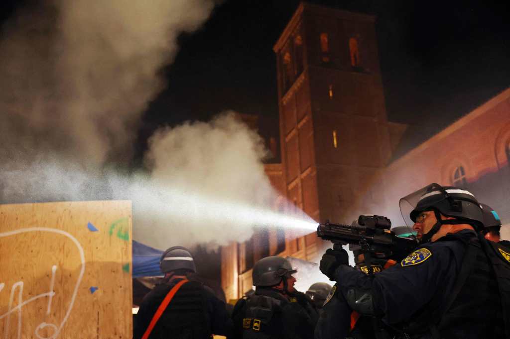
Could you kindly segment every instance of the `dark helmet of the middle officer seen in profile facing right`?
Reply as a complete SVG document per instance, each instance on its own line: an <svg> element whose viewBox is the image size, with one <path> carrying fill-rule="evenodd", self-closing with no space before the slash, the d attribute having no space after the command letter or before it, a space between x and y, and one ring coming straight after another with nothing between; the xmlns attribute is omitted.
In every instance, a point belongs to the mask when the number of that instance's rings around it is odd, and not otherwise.
<svg viewBox="0 0 510 339"><path fill-rule="evenodd" d="M285 275L296 273L289 261L282 257L272 256L262 258L253 265L254 286L278 285Z"/></svg>

